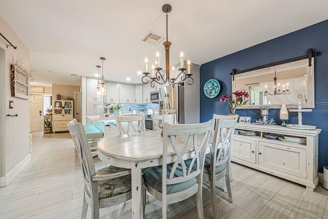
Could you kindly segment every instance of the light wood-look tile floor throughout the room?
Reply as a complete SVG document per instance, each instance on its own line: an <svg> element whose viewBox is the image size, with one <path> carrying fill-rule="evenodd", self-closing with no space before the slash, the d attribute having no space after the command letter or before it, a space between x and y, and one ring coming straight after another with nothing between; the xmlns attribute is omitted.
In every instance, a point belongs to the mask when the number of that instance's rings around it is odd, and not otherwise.
<svg viewBox="0 0 328 219"><path fill-rule="evenodd" d="M95 163L97 169L104 166ZM328 190L314 192L242 165L232 164L233 203L217 190L221 218L328 218ZM218 183L220 186L220 182ZM69 133L33 133L32 161L0 188L0 218L79 218L83 200L80 165ZM213 218L203 189L205 218ZM196 198L169 205L168 218L197 218ZM90 208L87 218L90 216ZM101 209L100 218L131 218L131 201ZM161 203L147 196L146 218L161 218Z"/></svg>

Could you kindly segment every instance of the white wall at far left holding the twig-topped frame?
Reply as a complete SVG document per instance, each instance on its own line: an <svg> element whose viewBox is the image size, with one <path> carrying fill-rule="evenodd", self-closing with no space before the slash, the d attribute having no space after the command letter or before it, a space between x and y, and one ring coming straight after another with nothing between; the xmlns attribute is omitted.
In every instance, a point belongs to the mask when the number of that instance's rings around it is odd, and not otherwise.
<svg viewBox="0 0 328 219"><path fill-rule="evenodd" d="M10 65L11 58L14 56L22 57L26 65L30 64L30 52L20 42L19 38L10 28L10 26L4 21L0 16L0 27L1 32L4 34L11 43L17 46L17 49L12 47L7 48L7 42L0 37L0 47L4 49L4 56L2 57L5 68L4 71L0 69L0 136L1 145L0 152L5 152L5 160L3 155L0 156L0 183L3 182L3 178L7 177L7 183L12 180L12 178L22 169L22 165L30 160L30 147L29 147L29 100L18 99L11 97L11 86L10 86ZM0 52L3 56L3 53ZM0 57L1 59L1 57ZM0 61L1 62L1 61ZM0 68L3 68L1 65ZM4 86L5 85L5 89ZM5 92L5 94L4 94ZM3 98L5 97L5 98ZM9 101L14 102L14 108L9 109ZM3 117L6 114L18 114L17 117ZM5 124L4 124L5 123ZM5 129L5 130L3 130ZM23 164L22 164L23 162ZM17 172L18 171L18 172ZM9 176L10 174L10 176ZM9 180L8 180L9 178ZM1 185L0 185L1 186Z"/></svg>

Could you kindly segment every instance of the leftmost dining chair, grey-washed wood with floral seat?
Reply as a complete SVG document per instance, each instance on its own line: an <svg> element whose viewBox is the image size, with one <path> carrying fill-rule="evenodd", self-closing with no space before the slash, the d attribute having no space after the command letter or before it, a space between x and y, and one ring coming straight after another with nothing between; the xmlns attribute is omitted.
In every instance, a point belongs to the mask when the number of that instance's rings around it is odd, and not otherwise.
<svg viewBox="0 0 328 219"><path fill-rule="evenodd" d="M106 208L131 199L131 170L108 166L95 171L83 125L74 120L67 124L78 154L83 174L84 196L81 218L88 206L91 218L99 218L99 208Z"/></svg>

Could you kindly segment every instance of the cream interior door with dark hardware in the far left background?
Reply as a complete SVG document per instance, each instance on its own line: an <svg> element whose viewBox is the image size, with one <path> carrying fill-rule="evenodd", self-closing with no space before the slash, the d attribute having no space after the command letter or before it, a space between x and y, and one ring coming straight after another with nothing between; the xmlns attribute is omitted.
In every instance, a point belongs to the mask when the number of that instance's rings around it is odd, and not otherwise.
<svg viewBox="0 0 328 219"><path fill-rule="evenodd" d="M43 127L43 94L34 94L30 101L30 130L42 131Z"/></svg>

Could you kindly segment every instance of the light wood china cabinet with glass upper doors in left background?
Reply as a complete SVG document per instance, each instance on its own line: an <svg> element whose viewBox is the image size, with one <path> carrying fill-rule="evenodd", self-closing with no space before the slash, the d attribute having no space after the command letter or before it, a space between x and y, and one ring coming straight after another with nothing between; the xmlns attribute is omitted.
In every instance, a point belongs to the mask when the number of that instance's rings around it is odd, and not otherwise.
<svg viewBox="0 0 328 219"><path fill-rule="evenodd" d="M54 101L52 105L52 132L68 131L67 123L73 118L73 101Z"/></svg>

